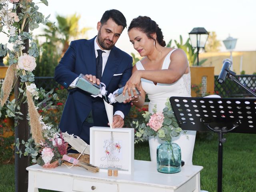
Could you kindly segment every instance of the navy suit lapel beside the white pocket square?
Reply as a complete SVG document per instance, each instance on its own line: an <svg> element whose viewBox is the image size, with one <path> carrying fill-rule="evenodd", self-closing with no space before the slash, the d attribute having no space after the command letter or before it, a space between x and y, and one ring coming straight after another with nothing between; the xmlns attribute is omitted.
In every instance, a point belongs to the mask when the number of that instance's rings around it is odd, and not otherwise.
<svg viewBox="0 0 256 192"><path fill-rule="evenodd" d="M108 87L110 80L112 79L114 73L116 72L116 70L118 68L119 59L120 58L118 58L118 52L116 51L116 47L114 46L111 49L104 72L102 74L101 81L106 85L106 88Z"/></svg>

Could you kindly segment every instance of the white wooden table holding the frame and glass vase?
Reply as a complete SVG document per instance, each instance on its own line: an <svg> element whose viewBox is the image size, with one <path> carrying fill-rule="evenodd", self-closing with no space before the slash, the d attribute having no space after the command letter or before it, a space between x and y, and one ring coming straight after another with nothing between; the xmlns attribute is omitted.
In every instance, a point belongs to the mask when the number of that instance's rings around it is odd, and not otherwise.
<svg viewBox="0 0 256 192"><path fill-rule="evenodd" d="M36 164L27 167L28 192L38 192L38 188L62 192L200 192L202 169L184 165L179 173L163 174L157 172L156 163L134 160L132 174L114 177L76 166L45 169Z"/></svg>

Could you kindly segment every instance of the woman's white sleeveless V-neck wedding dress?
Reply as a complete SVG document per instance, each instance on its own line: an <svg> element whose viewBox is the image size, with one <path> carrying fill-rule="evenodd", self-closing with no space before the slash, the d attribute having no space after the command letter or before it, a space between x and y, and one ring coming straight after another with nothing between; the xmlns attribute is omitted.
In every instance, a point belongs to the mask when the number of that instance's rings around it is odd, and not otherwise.
<svg viewBox="0 0 256 192"><path fill-rule="evenodd" d="M164 59L162 70L168 69L170 65L170 55L176 49L173 49L168 53ZM138 61L136 63L137 70L145 70L142 66L142 63ZM141 79L141 84L143 90L148 94L150 100L148 105L148 111L153 113L152 110L156 104L157 111L161 111L165 108L165 103L167 98L171 96L183 96L191 97L191 79L190 71L188 74L184 74L178 81L173 84L154 84L150 80ZM188 138L187 138L187 136ZM181 159L184 160L185 164L192 165L192 155L194 150L194 143L196 138L196 131L187 131L186 135L180 134L178 137L172 138L172 142L177 143L181 149ZM162 143L158 137L150 136L149 137L149 146L150 146L150 158L151 161L156 162L156 148Z"/></svg>

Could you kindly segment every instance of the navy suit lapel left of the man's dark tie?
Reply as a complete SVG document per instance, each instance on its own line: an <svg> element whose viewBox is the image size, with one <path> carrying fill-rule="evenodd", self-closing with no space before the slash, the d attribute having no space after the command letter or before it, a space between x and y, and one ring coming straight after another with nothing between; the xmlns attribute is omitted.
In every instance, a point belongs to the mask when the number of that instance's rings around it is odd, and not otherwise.
<svg viewBox="0 0 256 192"><path fill-rule="evenodd" d="M94 50L94 38L87 41L83 50L83 61L87 74L96 75L96 56Z"/></svg>

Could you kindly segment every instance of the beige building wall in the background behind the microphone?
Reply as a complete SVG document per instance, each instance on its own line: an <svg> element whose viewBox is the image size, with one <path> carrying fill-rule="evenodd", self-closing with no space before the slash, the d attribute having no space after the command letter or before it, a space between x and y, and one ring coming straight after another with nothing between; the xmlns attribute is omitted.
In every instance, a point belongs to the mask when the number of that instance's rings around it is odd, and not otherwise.
<svg viewBox="0 0 256 192"><path fill-rule="evenodd" d="M219 75L222 68L222 61L230 58L230 52L207 52L200 53L199 60L206 59L202 66L213 66L214 75ZM242 70L245 74L253 74L256 72L256 51L232 52L233 71L240 74Z"/></svg>

